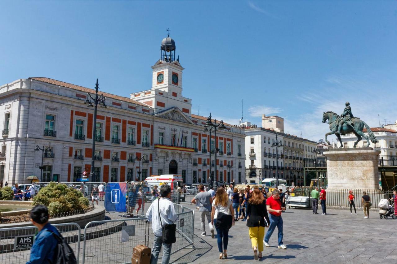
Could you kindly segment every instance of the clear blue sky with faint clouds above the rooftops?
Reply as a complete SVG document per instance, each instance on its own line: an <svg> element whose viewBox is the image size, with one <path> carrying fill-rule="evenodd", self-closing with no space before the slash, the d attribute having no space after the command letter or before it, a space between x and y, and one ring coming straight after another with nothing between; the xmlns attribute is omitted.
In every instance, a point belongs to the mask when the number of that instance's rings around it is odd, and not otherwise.
<svg viewBox="0 0 397 264"><path fill-rule="evenodd" d="M397 119L396 1L1 1L0 83L49 77L121 96L151 87L171 29L193 113L285 118L318 140L322 111Z"/></svg>

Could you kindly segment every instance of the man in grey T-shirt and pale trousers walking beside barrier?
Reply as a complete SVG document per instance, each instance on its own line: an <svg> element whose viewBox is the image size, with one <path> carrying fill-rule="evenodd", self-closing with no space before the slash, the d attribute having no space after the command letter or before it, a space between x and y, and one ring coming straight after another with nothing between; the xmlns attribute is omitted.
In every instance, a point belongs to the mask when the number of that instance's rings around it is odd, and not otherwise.
<svg viewBox="0 0 397 264"><path fill-rule="evenodd" d="M193 198L192 203L196 203L196 200L200 202L200 223L201 223L201 235L205 237L207 233L205 232L205 218L207 218L208 226L210 227L211 237L215 237L214 226L211 221L211 210L212 210L212 197L211 193L204 191L204 186L200 184L198 186L198 193Z"/></svg>

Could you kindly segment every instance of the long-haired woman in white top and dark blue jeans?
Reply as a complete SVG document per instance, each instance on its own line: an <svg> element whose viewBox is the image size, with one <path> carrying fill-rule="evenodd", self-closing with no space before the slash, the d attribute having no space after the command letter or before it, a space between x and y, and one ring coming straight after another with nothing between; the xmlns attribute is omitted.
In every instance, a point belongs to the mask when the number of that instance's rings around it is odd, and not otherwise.
<svg viewBox="0 0 397 264"><path fill-rule="evenodd" d="M215 226L216 233L218 236L218 249L219 249L219 258L222 259L222 256L227 258L227 243L229 242L229 229L226 228L218 228L216 227L216 217L218 216L218 212L223 212L224 214L231 214L233 218L232 225L234 226L234 212L233 207L231 206L231 200L227 196L227 193L224 188L218 187L215 193L215 199L212 201L212 211L211 211L211 224ZM222 255L222 243L223 243L223 255Z"/></svg>

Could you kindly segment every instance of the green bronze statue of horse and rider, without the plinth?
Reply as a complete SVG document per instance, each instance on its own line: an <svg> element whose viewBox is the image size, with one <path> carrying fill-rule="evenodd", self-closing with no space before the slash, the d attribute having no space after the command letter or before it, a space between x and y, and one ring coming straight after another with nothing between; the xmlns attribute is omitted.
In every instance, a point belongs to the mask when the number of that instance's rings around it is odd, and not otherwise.
<svg viewBox="0 0 397 264"><path fill-rule="evenodd" d="M369 147L370 140L372 143L378 142L378 140L375 138L374 133L372 133L371 128L366 124L366 122L360 120L359 117L353 116L349 102L346 102L345 110L343 110L343 113L340 116L332 111L324 112L322 122L325 123L327 120L330 124L331 130L331 132L325 134L325 141L328 143L328 145L330 144L330 142L327 140L327 136L335 134L339 142L341 142L340 148L342 148L343 144L341 134L345 135L351 132L353 132L357 136L357 141L354 143L353 147L357 147L357 143L362 140L362 138L365 138L367 140L366 147ZM362 132L364 126L367 129L368 136Z"/></svg>

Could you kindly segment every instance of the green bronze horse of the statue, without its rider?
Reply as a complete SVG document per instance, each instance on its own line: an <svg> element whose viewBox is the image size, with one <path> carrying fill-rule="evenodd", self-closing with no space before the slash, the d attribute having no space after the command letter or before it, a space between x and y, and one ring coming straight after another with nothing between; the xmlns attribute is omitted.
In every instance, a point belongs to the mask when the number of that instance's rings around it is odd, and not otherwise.
<svg viewBox="0 0 397 264"><path fill-rule="evenodd" d="M342 144L341 135L338 133L338 124L339 124L340 119L341 119L341 117L337 113L328 111L328 112L324 112L322 122L325 123L328 120L328 122L330 123L331 132L328 132L327 134L325 134L325 141L328 144L330 144L330 142L328 142L328 140L327 140L327 136L335 134L337 136L339 142L341 142L340 148L342 148L343 144ZM362 130L364 129L364 126L367 129L368 136L362 132ZM342 126L342 129L341 129L342 135L345 135L345 134L351 133L351 132L353 132L357 136L357 141L354 143L353 147L357 147L357 143L360 140L362 140L362 138L365 138L367 140L367 147L369 147L369 145L370 145L370 140L372 143L378 142L374 133L372 133L371 128L366 124L366 122L362 121L361 119L359 119L357 117L353 117L351 126L349 126L347 124L343 124L343 126Z"/></svg>

